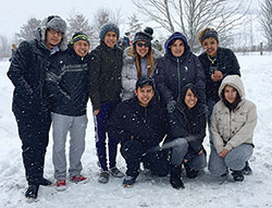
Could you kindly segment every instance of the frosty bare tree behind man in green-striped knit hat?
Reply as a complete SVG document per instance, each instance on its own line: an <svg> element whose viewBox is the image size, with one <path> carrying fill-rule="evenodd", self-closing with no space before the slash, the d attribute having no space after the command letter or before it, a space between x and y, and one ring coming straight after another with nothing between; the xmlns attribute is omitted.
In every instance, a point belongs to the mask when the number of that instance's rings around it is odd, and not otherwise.
<svg viewBox="0 0 272 208"><path fill-rule="evenodd" d="M89 24L88 20L82 14L82 13L75 13L70 15L70 19L67 19L67 38L69 40L72 38L75 32L83 32L87 36L89 36L90 39L94 38L95 29ZM90 48L95 47L95 42L90 41Z"/></svg>

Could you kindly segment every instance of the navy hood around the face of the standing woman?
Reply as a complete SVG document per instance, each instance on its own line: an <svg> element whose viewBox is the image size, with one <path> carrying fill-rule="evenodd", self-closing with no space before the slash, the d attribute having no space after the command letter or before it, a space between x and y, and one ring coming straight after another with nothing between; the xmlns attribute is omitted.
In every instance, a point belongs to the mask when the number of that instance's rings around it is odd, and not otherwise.
<svg viewBox="0 0 272 208"><path fill-rule="evenodd" d="M165 41L164 44L164 49L165 49L165 54L174 58L174 56L172 54L171 52L171 49L170 49L170 45L176 40L176 39L181 39L183 40L184 42L184 46L185 46L185 49L184 49L184 53L182 54L182 57L184 57L185 54L189 53L190 52L190 47L188 45L188 41L187 41L187 38L180 32L175 32L174 34L172 34L168 40Z"/></svg>

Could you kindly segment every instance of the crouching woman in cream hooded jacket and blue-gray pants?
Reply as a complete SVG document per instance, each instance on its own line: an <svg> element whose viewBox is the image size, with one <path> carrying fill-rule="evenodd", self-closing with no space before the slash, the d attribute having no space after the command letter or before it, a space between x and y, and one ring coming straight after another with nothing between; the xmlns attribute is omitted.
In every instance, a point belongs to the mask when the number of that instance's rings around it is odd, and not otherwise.
<svg viewBox="0 0 272 208"><path fill-rule="evenodd" d="M211 147L209 171L244 181L251 174L248 160L254 151L254 130L257 124L256 105L245 99L245 89L238 75L226 76L219 88L220 101L211 115Z"/></svg>

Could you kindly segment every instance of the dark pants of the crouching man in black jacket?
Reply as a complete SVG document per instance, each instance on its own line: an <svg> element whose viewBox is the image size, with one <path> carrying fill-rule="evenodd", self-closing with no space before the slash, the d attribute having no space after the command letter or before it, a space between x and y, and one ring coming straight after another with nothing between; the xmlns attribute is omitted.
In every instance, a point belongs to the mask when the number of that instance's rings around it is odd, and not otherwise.
<svg viewBox="0 0 272 208"><path fill-rule="evenodd" d="M121 146L121 154L126 161L126 175L135 178L139 174L140 162L144 162L144 167L150 169L153 175L168 175L170 170L168 152L165 149L147 152L147 149L136 140L127 140Z"/></svg>

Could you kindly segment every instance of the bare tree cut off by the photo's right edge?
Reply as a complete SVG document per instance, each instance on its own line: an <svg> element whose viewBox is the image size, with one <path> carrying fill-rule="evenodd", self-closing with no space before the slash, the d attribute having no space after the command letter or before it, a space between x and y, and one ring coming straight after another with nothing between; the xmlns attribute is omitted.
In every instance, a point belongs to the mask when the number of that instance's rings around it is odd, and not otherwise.
<svg viewBox="0 0 272 208"><path fill-rule="evenodd" d="M268 41L268 47L272 50L272 1L264 0L261 4L260 22L262 32Z"/></svg>

